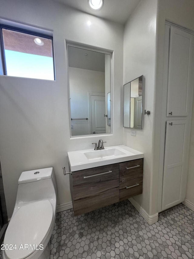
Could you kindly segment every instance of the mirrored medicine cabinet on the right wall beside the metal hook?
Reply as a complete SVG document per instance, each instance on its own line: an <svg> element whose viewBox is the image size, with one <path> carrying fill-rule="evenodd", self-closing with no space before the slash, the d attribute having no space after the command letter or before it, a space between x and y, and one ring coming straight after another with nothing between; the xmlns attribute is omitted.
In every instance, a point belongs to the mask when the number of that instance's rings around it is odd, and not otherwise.
<svg viewBox="0 0 194 259"><path fill-rule="evenodd" d="M123 87L123 127L142 129L143 75Z"/></svg>

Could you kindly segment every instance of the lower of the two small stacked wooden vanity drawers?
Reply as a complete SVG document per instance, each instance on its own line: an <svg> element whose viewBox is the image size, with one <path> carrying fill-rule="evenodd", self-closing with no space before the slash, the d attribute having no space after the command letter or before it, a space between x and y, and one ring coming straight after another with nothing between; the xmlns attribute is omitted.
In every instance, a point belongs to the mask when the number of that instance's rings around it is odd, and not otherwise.
<svg viewBox="0 0 194 259"><path fill-rule="evenodd" d="M143 177L119 184L119 201L142 193Z"/></svg>

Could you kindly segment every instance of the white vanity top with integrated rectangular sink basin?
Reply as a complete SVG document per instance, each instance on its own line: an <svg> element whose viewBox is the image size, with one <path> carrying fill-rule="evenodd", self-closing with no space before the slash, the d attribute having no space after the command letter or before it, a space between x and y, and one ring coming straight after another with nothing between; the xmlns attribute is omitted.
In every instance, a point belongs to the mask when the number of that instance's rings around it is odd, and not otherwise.
<svg viewBox="0 0 194 259"><path fill-rule="evenodd" d="M125 145L67 152L71 172L143 158L143 153Z"/></svg>

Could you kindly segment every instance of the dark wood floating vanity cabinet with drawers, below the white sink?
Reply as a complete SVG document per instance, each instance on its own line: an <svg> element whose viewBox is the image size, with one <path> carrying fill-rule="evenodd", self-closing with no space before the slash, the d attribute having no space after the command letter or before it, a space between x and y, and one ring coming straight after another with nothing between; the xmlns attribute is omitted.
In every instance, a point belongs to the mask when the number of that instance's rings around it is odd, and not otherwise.
<svg viewBox="0 0 194 259"><path fill-rule="evenodd" d="M126 169L128 167L130 169ZM74 215L142 193L142 176L143 158L72 172L70 190Z"/></svg>

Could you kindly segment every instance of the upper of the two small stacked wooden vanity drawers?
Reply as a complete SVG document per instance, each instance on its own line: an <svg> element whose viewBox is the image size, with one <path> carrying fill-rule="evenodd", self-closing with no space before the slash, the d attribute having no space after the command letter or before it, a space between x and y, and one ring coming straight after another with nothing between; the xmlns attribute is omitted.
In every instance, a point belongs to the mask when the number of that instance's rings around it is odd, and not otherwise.
<svg viewBox="0 0 194 259"><path fill-rule="evenodd" d="M143 176L143 158L119 164L119 182L129 181Z"/></svg>

